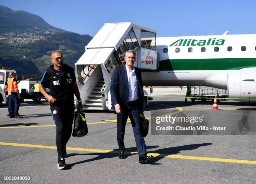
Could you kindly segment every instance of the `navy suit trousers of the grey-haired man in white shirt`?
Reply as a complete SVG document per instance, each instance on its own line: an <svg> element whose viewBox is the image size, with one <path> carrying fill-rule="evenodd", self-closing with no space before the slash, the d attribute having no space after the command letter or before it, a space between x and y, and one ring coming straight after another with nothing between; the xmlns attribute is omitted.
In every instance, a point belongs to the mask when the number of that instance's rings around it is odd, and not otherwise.
<svg viewBox="0 0 256 184"><path fill-rule="evenodd" d="M133 127L133 134L136 142L136 147L139 157L146 154L146 144L143 136L141 135L141 110L139 109L139 103L129 104L127 108L122 109L123 113L117 113L117 141L119 146L119 151L124 152L124 135L125 135L125 124L127 118L131 119L131 124Z"/></svg>

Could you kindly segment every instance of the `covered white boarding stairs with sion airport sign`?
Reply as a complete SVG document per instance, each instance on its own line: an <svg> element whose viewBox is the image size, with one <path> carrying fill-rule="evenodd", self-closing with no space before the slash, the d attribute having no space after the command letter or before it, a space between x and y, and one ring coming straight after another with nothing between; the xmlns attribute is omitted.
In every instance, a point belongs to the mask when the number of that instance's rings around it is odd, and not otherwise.
<svg viewBox="0 0 256 184"><path fill-rule="evenodd" d="M145 35L146 36L143 36ZM75 75L84 110L111 109L110 84L114 70L125 65L125 52L136 52L134 66L157 69L155 48L156 31L131 22L105 24L85 47L84 54L75 63ZM148 56L154 65L138 62ZM148 68L150 67L150 68Z"/></svg>

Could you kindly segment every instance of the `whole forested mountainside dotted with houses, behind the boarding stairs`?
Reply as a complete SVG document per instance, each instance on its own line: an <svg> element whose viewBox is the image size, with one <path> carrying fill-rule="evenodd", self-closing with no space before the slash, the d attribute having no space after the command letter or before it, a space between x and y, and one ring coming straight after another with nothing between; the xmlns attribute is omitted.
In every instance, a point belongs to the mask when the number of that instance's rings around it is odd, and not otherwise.
<svg viewBox="0 0 256 184"><path fill-rule="evenodd" d="M51 65L54 51L60 51L64 63L74 67L90 40L90 35L58 29L38 15L0 5L0 67L16 70L18 75L39 79Z"/></svg>

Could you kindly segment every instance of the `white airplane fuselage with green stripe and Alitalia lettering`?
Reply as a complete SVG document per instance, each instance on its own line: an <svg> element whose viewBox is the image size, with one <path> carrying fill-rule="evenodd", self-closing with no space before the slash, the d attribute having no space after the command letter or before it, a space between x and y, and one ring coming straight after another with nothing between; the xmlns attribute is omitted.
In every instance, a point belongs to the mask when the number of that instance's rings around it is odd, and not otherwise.
<svg viewBox="0 0 256 184"><path fill-rule="evenodd" d="M256 34L157 37L158 72L145 85L205 85L227 89L228 73L256 67Z"/></svg>

